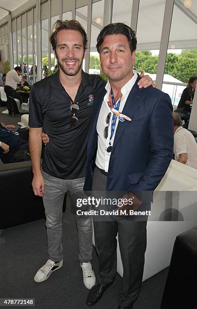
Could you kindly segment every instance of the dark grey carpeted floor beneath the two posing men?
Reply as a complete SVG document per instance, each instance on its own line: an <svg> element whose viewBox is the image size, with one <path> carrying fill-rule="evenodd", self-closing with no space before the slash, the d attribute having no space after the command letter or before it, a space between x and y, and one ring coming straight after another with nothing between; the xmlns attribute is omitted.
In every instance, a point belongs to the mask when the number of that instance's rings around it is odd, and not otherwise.
<svg viewBox="0 0 197 309"><path fill-rule="evenodd" d="M16 205L20 207L20 204ZM86 309L88 290L84 287L78 256L77 230L70 213L63 219L64 264L48 280L35 283L35 272L46 262L47 242L44 220L34 221L2 231L0 235L0 298L35 298L40 309ZM97 273L97 256L93 249L93 268ZM134 309L159 309L167 271L145 281ZM95 309L117 309L119 275ZM6 307L5 307L6 308ZM17 308L17 307L16 307Z"/></svg>

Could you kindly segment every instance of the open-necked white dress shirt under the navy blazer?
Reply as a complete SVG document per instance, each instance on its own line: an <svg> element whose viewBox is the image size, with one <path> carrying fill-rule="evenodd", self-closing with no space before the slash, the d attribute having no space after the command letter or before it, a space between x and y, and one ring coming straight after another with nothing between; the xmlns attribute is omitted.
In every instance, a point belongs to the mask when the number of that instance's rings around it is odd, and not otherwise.
<svg viewBox="0 0 197 309"><path fill-rule="evenodd" d="M121 113L126 99L128 97L128 94L130 92L130 90L132 90L136 80L138 78L138 74L136 71L134 71L134 76L121 88L121 94L122 94L122 98L120 101L120 107L119 107L119 112ZM109 160L110 160L110 156L111 156L111 152L107 152L107 147L109 146L109 140L110 140L110 135L111 135L111 122L112 122L112 117L113 117L113 113L111 112L107 101L108 101L108 97L110 95L110 84L109 82L107 82L105 89L107 90L107 93L104 96L102 105L101 105L101 109L99 112L99 116L98 116L98 121L97 121L97 126L96 126L96 130L97 130L97 134L98 134L98 148L97 148L97 154L96 154L96 166L101 169L104 170L105 172L108 172L108 166L109 166ZM109 121L109 128L108 128L108 137L107 139L104 138L104 129L107 126L106 124L106 118L107 115L111 112L111 117L110 117L110 121ZM127 115L125 115L127 116ZM124 120L124 121L128 121L128 120ZM114 141L114 137L115 137L115 132L118 126L118 122L119 119L116 119L116 124L115 124L115 129L114 129L114 133L113 133L113 137L111 139L111 146L113 146L113 141Z"/></svg>

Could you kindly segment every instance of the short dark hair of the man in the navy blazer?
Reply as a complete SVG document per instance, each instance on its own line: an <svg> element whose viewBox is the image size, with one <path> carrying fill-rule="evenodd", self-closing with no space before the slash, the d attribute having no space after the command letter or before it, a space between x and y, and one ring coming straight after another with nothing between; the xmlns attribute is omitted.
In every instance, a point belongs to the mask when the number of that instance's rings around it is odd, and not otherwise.
<svg viewBox="0 0 197 309"><path fill-rule="evenodd" d="M135 31L123 23L113 23L113 24L109 24L105 26L97 37L96 48L99 54L100 54L101 44L103 43L105 36L112 35L112 34L125 35L128 39L130 51L133 53L134 50L136 50L137 38L135 35Z"/></svg>

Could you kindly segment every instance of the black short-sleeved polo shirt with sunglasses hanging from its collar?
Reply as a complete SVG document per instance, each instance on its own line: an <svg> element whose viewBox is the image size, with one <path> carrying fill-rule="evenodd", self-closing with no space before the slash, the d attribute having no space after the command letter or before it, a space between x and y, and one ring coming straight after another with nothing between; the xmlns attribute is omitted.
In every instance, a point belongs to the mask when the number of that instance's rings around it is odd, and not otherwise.
<svg viewBox="0 0 197 309"><path fill-rule="evenodd" d="M42 169L60 179L85 176L86 144L96 91L105 86L99 75L82 71L82 81L75 103L78 125L70 126L72 99L59 80L59 72L35 83L29 99L29 126L43 127L49 136L44 147Z"/></svg>

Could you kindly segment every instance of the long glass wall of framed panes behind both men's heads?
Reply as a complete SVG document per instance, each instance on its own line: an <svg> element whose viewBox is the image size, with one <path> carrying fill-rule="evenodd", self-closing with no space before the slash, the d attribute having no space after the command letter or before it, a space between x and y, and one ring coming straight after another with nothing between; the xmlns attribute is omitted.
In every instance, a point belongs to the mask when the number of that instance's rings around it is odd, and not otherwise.
<svg viewBox="0 0 197 309"><path fill-rule="evenodd" d="M90 51L90 73L100 73L100 60L95 46L96 38L103 27L104 15L107 14L104 12L104 2L104 0L100 0L92 3L91 37L89 38L90 48L88 49ZM171 22L168 53L162 88L164 91L169 93L174 104L178 103L182 89L184 88L188 78L191 75L196 74L197 71L197 25L194 21L194 16L196 17L197 15L197 6L195 5L195 2L190 2L190 7L187 8L187 2L180 0L180 3L182 4L182 7L181 5L178 6L175 2L173 8L173 17ZM50 55L51 58L51 71L56 65L56 60L48 43L48 37L51 32L51 29L48 29L48 18L51 18L52 28L54 22L59 19L62 8L62 20L72 19L72 0L62 0L62 6L61 1L56 3L52 0L51 4L51 12L49 12L49 10L47 11L47 1L41 5L42 21L41 37L39 38L37 38L35 23L34 31L32 28L33 25L28 23L28 30L24 25L24 12L23 15L18 16L12 21L14 66L20 65L21 63L25 64L27 62L27 52L29 69L32 68L33 63L37 65L37 39L39 39L39 43L41 45L42 77L45 76L45 68L48 68L48 55ZM88 4L88 0L77 0L76 2L76 20L84 26L86 31L87 28L90 28L90 25L87 24ZM121 2L119 0L113 0L111 16L112 22L123 22L126 25L130 25L133 4L133 0L122 0ZM157 73L165 4L165 0L140 0L139 3L137 23L138 45L135 67L137 67L139 72L141 70L145 70L145 72L150 74L154 80L156 79ZM35 22L35 8L33 11L34 13L32 15L34 15ZM55 16L50 16L53 12ZM27 18L27 22L28 21L29 19ZM33 21L31 23L33 24ZM8 31L6 27L7 25L0 28L1 44L5 44L7 41L6 36ZM26 50L27 46L28 50ZM84 64L83 68L85 68ZM26 74L26 72L24 73ZM174 87L175 83L176 88ZM182 86L181 83L183 84Z"/></svg>

